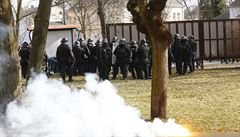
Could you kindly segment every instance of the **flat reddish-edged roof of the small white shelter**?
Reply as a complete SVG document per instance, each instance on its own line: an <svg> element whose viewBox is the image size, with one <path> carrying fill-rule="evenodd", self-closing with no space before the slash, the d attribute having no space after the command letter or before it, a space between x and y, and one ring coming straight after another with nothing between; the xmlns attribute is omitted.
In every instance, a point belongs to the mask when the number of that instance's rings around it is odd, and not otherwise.
<svg viewBox="0 0 240 137"><path fill-rule="evenodd" d="M69 30L69 29L75 29L75 28L80 28L80 25L72 25L72 24L68 24L68 25L50 25L48 27L48 30ZM28 31L33 31L33 27L28 27L27 30Z"/></svg>

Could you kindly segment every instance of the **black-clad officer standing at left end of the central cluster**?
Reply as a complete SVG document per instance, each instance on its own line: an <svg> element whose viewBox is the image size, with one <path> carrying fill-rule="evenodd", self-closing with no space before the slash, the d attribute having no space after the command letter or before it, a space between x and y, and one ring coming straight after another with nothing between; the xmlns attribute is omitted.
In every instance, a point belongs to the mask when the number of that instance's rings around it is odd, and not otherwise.
<svg viewBox="0 0 240 137"><path fill-rule="evenodd" d="M62 41L62 44L60 44L60 46L57 48L56 57L59 63L60 75L63 81L65 81L66 73L69 75L69 81L72 81L72 68L75 59L69 45L67 45L65 42Z"/></svg>

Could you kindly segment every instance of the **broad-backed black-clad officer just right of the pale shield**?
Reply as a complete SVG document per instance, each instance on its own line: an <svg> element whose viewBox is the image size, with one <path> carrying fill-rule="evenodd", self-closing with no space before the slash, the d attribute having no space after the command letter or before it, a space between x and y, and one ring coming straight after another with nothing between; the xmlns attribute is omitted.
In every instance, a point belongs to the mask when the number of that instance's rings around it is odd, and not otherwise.
<svg viewBox="0 0 240 137"><path fill-rule="evenodd" d="M123 41L123 42L119 42L118 47L114 51L114 54L116 56L115 69L118 70L118 67L120 67L121 73L123 75L123 79L127 79L131 50L130 50L130 46L128 46L125 43L125 40L120 40L120 41ZM118 72L117 70L113 71L113 79L116 78L116 75L117 75L116 72Z"/></svg>

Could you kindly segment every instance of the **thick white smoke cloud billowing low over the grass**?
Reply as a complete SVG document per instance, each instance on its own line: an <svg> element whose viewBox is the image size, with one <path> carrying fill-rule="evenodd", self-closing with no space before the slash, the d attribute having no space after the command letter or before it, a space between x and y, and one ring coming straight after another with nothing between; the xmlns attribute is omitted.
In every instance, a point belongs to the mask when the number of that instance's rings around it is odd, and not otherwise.
<svg viewBox="0 0 240 137"><path fill-rule="evenodd" d="M2 123L1 137L154 137L165 136L170 128L172 133L185 130L173 121L145 122L109 81L98 82L95 75L86 77L81 90L35 77L22 97L8 105Z"/></svg>

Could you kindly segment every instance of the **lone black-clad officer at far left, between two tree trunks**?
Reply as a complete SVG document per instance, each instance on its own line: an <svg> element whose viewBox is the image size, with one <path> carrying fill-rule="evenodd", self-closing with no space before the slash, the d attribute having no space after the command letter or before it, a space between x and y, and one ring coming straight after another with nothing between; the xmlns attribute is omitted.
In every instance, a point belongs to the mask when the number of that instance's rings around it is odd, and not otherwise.
<svg viewBox="0 0 240 137"><path fill-rule="evenodd" d="M26 42L22 44L22 47L18 53L18 55L21 57L20 65L22 69L22 76L23 78L26 78L27 76L27 70L29 65L29 57L30 57L30 47Z"/></svg>

